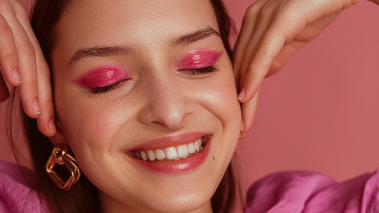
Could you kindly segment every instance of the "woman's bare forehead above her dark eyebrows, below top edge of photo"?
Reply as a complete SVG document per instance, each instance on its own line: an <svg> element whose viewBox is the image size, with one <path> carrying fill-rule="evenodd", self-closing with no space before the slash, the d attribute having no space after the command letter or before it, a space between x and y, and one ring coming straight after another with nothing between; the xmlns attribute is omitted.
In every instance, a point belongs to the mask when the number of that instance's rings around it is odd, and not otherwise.
<svg viewBox="0 0 379 213"><path fill-rule="evenodd" d="M209 0L74 0L58 23L58 43L159 42L210 26L218 30Z"/></svg>

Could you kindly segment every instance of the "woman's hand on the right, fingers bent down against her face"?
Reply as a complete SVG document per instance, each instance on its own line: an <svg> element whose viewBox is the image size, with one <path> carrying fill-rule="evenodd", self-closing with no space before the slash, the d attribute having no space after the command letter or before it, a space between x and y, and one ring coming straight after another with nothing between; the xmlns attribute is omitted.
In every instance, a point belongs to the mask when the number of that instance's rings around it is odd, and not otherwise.
<svg viewBox="0 0 379 213"><path fill-rule="evenodd" d="M233 57L234 70L240 79L238 99L244 122L241 138L253 126L263 78L279 71L343 9L358 1L258 0L247 9Z"/></svg>

